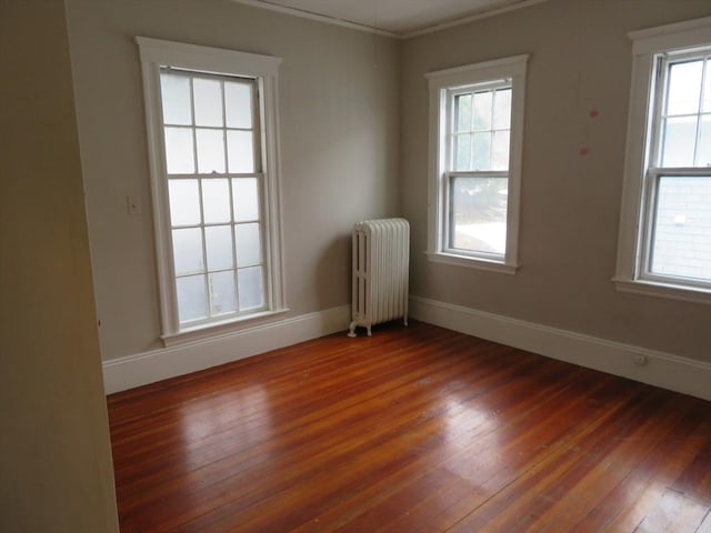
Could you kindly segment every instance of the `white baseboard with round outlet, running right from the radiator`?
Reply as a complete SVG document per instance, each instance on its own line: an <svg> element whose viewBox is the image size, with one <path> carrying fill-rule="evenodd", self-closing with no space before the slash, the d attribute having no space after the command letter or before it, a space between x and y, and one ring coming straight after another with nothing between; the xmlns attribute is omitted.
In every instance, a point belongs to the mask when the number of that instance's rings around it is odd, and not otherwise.
<svg viewBox="0 0 711 533"><path fill-rule="evenodd" d="M711 400L711 363L582 335L420 296L410 315L422 322L609 374ZM645 364L639 365L640 356Z"/></svg>

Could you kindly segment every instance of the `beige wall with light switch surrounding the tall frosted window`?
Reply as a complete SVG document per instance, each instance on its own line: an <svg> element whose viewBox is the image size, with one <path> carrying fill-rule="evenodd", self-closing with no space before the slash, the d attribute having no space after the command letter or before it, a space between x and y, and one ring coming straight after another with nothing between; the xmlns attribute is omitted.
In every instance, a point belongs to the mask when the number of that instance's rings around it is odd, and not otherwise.
<svg viewBox="0 0 711 533"><path fill-rule="evenodd" d="M134 36L278 56L287 304L350 301L354 221L398 212L399 43L230 0L68 0L104 360L159 346ZM129 217L126 195L141 198Z"/></svg>

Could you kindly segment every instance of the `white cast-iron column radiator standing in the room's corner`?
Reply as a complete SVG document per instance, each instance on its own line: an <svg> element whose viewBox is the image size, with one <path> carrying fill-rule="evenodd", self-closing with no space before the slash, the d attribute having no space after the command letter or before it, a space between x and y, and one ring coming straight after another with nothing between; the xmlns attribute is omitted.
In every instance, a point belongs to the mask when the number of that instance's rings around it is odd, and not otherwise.
<svg viewBox="0 0 711 533"><path fill-rule="evenodd" d="M404 219L364 220L353 228L353 321L368 329L403 319L408 325L410 224Z"/></svg>

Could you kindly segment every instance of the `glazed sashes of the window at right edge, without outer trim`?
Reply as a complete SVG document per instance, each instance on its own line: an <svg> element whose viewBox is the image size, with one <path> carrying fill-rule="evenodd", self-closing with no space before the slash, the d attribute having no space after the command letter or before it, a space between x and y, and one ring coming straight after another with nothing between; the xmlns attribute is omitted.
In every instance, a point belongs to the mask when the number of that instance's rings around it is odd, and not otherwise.
<svg viewBox="0 0 711 533"><path fill-rule="evenodd" d="M711 48L654 57L643 280L711 286Z"/></svg>

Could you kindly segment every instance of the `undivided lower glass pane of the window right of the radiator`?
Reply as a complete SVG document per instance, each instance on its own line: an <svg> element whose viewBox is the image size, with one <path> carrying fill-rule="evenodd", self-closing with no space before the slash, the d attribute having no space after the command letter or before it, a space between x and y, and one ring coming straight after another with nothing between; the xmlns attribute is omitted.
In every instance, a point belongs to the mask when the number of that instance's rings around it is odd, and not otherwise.
<svg viewBox="0 0 711 533"><path fill-rule="evenodd" d="M508 187L507 178L452 178L451 248L504 255Z"/></svg>

